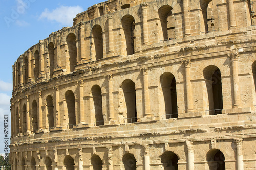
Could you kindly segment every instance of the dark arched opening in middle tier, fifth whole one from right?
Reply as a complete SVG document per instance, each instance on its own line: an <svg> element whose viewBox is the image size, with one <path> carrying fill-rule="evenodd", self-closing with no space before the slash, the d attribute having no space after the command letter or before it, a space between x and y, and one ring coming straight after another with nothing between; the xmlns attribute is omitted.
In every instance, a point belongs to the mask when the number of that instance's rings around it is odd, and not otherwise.
<svg viewBox="0 0 256 170"><path fill-rule="evenodd" d="M65 100L68 109L69 117L69 128L73 128L73 125L76 125L76 109L75 109L75 95L73 91L68 90L65 94Z"/></svg>

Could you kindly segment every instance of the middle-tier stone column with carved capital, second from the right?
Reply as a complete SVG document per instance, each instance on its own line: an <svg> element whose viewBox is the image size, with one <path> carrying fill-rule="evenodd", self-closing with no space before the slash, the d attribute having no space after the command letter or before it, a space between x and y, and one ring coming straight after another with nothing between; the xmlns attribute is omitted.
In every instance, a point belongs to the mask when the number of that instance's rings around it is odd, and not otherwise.
<svg viewBox="0 0 256 170"><path fill-rule="evenodd" d="M185 66L185 74L186 74L186 99L187 99L187 110L186 112L193 112L193 96L192 96L192 87L191 87L191 81L190 81L190 66L191 66L191 61L190 60L185 60L184 62Z"/></svg>

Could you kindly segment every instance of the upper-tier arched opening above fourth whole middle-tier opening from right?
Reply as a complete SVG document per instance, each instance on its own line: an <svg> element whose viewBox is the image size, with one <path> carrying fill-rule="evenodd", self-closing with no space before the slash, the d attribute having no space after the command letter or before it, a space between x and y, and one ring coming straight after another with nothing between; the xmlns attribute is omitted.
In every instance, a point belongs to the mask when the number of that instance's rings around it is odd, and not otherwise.
<svg viewBox="0 0 256 170"><path fill-rule="evenodd" d="M102 38L102 28L100 25L95 25L92 29L92 35L93 35L93 44L94 49L93 53L95 55L95 59L101 59L103 58L103 38Z"/></svg>

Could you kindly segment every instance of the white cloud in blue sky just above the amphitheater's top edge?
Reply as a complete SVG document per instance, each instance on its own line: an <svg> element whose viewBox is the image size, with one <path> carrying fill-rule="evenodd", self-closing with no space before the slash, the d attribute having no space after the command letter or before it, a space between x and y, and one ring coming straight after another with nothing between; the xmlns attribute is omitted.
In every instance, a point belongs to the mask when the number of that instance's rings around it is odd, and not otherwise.
<svg viewBox="0 0 256 170"><path fill-rule="evenodd" d="M46 8L44 12L41 13L39 19L46 18L49 21L56 21L65 26L72 26L73 18L80 12L83 12L80 6L60 6L52 11Z"/></svg>

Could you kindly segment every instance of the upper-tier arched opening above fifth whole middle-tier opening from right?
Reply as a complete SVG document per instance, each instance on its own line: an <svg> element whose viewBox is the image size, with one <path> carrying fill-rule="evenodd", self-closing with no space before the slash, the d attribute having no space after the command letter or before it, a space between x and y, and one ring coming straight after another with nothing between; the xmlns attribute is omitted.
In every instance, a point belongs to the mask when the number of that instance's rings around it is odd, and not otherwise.
<svg viewBox="0 0 256 170"><path fill-rule="evenodd" d="M69 64L70 64L70 72L75 71L75 65L76 65L76 57L77 57L77 51L76 51L76 36L73 33L70 33L67 36L67 44L69 48Z"/></svg>

